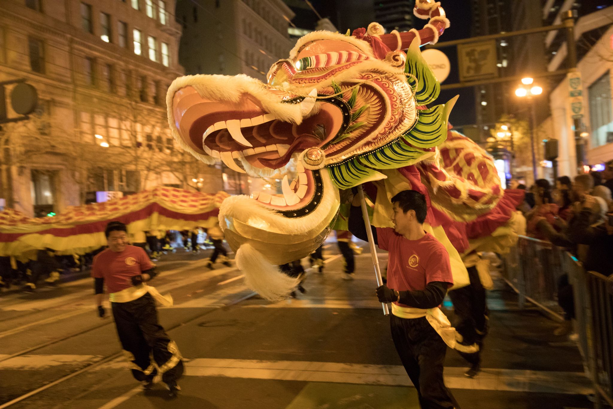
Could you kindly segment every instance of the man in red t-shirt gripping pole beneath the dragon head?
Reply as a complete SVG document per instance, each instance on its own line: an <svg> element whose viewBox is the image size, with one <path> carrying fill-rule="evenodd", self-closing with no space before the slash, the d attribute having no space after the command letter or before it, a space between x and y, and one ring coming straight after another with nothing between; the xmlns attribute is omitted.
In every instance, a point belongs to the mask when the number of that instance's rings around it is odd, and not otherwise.
<svg viewBox="0 0 613 409"><path fill-rule="evenodd" d="M379 302L392 302L390 327L396 351L413 381L424 409L459 408L443 382L447 349L443 338L425 318L425 310L443 302L453 285L449 254L424 231L425 196L405 190L392 197L394 228L373 227L375 244L389 251L387 286L376 289ZM367 240L356 196L349 215L349 231ZM419 317L419 318L414 318Z"/></svg>

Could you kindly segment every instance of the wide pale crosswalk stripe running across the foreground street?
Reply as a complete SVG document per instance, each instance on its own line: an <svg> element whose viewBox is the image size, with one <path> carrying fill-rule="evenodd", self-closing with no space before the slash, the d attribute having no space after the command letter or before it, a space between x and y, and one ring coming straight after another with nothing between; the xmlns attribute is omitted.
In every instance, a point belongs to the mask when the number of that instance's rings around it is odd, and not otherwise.
<svg viewBox="0 0 613 409"><path fill-rule="evenodd" d="M0 370L40 370L51 366L91 363L100 359L95 355L26 355L0 363ZM123 357L99 365L94 370L127 367ZM466 368L446 367L447 387L488 391L547 392L556 394L590 394L590 380L582 372L555 372L517 369L483 368L476 378L466 378ZM283 381L332 382L413 386L401 365L343 364L311 361L256 361L251 359L185 359L188 377L230 377ZM137 391L140 388L136 388ZM134 390L127 392L134 395ZM104 408L124 402L121 396ZM123 400L119 400L123 399Z"/></svg>

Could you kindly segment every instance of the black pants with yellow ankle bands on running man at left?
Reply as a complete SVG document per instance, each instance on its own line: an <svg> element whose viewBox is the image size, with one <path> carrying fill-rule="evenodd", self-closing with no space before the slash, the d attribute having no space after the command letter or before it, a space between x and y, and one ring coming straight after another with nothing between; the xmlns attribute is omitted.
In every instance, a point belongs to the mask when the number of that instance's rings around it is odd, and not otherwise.
<svg viewBox="0 0 613 409"><path fill-rule="evenodd" d="M145 294L133 301L111 305L121 346L134 364L134 378L145 381L161 377L165 383L175 384L183 374L183 361L177 345L158 323L153 297Z"/></svg>

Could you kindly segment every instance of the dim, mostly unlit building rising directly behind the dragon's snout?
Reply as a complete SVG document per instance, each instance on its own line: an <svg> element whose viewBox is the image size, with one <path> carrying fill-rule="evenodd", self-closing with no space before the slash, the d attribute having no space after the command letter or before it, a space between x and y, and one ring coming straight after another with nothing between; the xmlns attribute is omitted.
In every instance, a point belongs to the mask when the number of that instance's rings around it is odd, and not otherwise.
<svg viewBox="0 0 613 409"><path fill-rule="evenodd" d="M294 17L283 0L178 0L179 61L187 74L247 74L265 79L292 48Z"/></svg>

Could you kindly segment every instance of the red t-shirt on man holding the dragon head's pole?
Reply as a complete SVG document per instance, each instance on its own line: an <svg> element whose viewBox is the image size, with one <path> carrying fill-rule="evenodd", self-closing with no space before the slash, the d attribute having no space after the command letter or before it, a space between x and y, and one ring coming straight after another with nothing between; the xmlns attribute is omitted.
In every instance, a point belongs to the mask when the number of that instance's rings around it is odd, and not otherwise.
<svg viewBox="0 0 613 409"><path fill-rule="evenodd" d="M377 227L377 241L381 250L389 251L387 286L397 291L424 289L432 281L454 283L446 248L426 233L419 240L408 240L391 227ZM408 305L395 303L401 307Z"/></svg>

